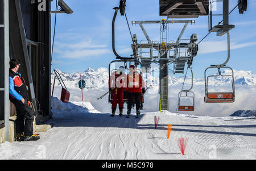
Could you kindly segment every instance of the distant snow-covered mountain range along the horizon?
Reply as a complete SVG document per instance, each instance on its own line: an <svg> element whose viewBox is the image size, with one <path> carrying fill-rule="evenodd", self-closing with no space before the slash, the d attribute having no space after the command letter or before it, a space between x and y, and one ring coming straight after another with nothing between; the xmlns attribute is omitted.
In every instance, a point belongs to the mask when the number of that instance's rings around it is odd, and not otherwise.
<svg viewBox="0 0 256 171"><path fill-rule="evenodd" d="M84 72L79 73L65 73L61 72L59 69L56 69L57 72L60 73L61 78L63 79L65 85L67 87L77 87L78 88L78 82L82 77L82 80L85 80L86 82L86 89L100 89L103 87L108 87L108 79L109 79L109 73L108 69L106 68L98 68L97 70L94 70L92 68L86 69ZM81 74L81 77L80 77ZM227 76L230 75L230 70L224 70L222 72L223 75ZM53 84L53 80L55 77L55 73L52 72L51 75L51 82ZM145 76L143 75L144 81L146 82L147 87L150 86L151 88L158 87L159 85L159 78L158 76ZM186 84L191 84L191 80L189 79L191 77L187 76L187 80L185 81ZM175 77L175 76L169 76L169 85L179 85L183 84L184 76L181 77ZM256 74L253 74L251 71L244 71L244 70L234 70L234 81L236 85L250 85L255 86L256 85ZM219 86L219 85L225 85L225 84L231 84L232 77L212 77L212 79L209 79L208 85L212 86ZM55 86L59 85L59 81L57 81ZM194 78L193 85L204 85L204 78Z"/></svg>

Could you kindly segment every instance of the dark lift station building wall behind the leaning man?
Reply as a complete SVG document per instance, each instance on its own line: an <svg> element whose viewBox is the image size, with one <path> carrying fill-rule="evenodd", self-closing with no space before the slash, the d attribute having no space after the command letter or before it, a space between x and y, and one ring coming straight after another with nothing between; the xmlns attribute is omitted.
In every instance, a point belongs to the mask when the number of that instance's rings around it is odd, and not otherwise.
<svg viewBox="0 0 256 171"><path fill-rule="evenodd" d="M29 100L34 103L37 123L49 118L51 107L51 1L46 0L46 11L38 10L39 3L30 0L9 1L10 59L21 61L19 73L22 73L28 86ZM0 22L2 16L0 10ZM1 31L0 35L2 42ZM2 57L0 61L2 65ZM3 67L0 68L2 70ZM0 76L4 78L2 71ZM0 80L0 85L2 84L3 79ZM0 106L4 106L3 98L0 94ZM0 120L3 120L3 116L1 107Z"/></svg>

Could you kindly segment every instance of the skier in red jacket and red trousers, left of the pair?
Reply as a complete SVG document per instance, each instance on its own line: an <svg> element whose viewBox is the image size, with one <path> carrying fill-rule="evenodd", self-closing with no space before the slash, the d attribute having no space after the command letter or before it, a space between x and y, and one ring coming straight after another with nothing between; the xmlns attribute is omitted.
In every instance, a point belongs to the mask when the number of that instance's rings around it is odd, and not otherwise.
<svg viewBox="0 0 256 171"><path fill-rule="evenodd" d="M119 116L123 115L123 91L126 86L125 68L120 66L113 72L109 78L109 91L112 93L112 115L115 115L117 109L117 102L119 107Z"/></svg>

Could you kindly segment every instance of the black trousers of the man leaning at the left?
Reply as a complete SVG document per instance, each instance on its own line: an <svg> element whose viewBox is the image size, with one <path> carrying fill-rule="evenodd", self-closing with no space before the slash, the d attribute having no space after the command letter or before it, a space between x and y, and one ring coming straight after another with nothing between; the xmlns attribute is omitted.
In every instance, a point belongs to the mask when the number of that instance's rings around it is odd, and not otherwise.
<svg viewBox="0 0 256 171"><path fill-rule="evenodd" d="M16 107L16 134L22 134L24 132L25 136L33 135L33 122L34 122L34 112L28 106L28 101L25 99L23 104L20 101L13 102Z"/></svg>

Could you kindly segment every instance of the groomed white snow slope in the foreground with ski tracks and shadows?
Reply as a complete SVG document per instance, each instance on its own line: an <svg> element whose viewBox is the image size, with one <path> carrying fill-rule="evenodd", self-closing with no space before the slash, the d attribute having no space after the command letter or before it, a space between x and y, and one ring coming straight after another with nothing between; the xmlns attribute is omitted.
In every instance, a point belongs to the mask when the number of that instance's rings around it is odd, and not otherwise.
<svg viewBox="0 0 256 171"><path fill-rule="evenodd" d="M53 104L53 128L41 132L39 141L0 144L0 159L256 159L255 119L224 121L234 117L167 111L112 118L89 103L90 109L56 98ZM154 116L160 117L157 129ZM173 126L170 139L167 124ZM177 146L179 137L188 137L185 155Z"/></svg>

